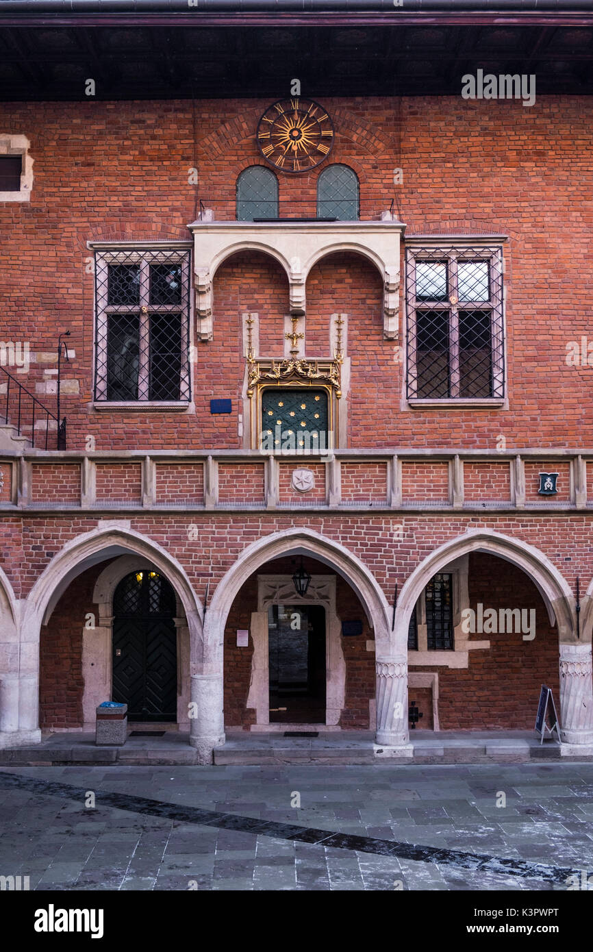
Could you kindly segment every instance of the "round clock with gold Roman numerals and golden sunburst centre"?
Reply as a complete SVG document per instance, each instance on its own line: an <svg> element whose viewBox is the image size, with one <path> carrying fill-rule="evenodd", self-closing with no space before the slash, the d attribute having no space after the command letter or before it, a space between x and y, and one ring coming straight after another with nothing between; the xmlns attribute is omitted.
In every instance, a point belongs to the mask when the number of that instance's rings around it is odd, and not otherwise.
<svg viewBox="0 0 593 952"><path fill-rule="evenodd" d="M269 106L257 127L257 145L270 166L283 172L307 172L333 146L333 123L312 99L290 97Z"/></svg>

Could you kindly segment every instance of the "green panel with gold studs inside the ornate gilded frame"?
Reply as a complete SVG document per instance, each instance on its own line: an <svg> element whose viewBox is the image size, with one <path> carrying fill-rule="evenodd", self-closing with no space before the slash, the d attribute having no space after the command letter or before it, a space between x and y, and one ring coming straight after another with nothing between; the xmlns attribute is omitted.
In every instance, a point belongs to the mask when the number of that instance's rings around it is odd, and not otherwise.
<svg viewBox="0 0 593 952"><path fill-rule="evenodd" d="M327 391L267 387L262 393L262 446L274 452L322 452L328 448Z"/></svg>

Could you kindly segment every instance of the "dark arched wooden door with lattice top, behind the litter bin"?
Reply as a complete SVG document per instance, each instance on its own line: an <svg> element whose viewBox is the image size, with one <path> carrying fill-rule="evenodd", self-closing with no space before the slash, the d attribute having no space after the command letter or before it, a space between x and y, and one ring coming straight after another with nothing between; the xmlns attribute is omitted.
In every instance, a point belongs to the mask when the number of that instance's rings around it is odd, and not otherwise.
<svg viewBox="0 0 593 952"><path fill-rule="evenodd" d="M113 701L130 721L177 720L175 595L158 572L131 572L113 597Z"/></svg>

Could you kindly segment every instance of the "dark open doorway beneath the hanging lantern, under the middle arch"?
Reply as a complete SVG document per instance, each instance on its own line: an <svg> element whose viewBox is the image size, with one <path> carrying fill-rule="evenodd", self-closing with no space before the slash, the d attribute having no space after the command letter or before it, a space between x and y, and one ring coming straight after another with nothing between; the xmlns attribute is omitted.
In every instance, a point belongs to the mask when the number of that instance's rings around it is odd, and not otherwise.
<svg viewBox="0 0 593 952"><path fill-rule="evenodd" d="M269 723L326 723L326 609L269 605Z"/></svg>

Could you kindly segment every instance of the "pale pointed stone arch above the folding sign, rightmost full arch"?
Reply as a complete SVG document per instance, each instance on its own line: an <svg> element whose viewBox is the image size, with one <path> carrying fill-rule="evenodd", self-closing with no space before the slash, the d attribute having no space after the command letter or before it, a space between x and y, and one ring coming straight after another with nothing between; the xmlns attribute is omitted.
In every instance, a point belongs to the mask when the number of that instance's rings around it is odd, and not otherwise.
<svg viewBox="0 0 593 952"><path fill-rule="evenodd" d="M558 625L560 642L574 640L573 593L556 566L535 545L492 529L478 528L470 529L464 535L440 545L408 577L400 592L395 614L394 651L405 650L410 614L425 585L445 565L468 552L486 552L498 556L524 571L542 595L550 625Z"/></svg>

